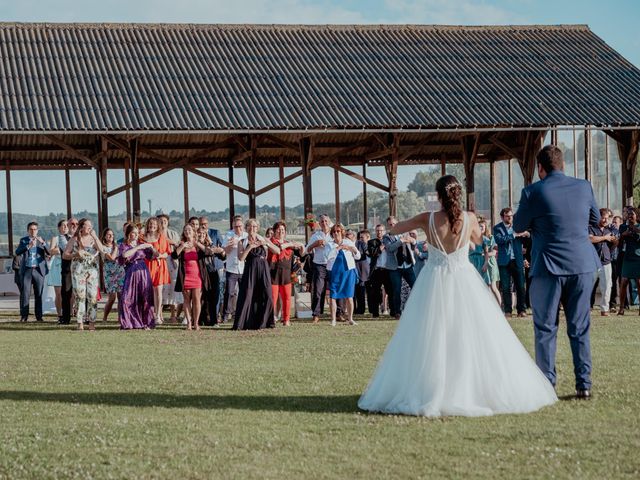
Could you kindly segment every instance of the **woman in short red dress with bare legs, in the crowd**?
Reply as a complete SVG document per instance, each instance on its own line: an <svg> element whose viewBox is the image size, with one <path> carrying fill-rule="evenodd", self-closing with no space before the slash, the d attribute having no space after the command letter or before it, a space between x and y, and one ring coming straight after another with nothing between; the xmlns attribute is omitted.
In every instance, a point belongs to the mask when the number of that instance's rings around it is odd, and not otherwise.
<svg viewBox="0 0 640 480"><path fill-rule="evenodd" d="M173 252L178 259L178 277L176 292L184 297L184 313L187 317L187 330L200 330L200 309L202 307L202 286L209 284L209 276L203 271L199 260L205 255L206 247L198 241L192 222L182 229L181 241Z"/></svg>

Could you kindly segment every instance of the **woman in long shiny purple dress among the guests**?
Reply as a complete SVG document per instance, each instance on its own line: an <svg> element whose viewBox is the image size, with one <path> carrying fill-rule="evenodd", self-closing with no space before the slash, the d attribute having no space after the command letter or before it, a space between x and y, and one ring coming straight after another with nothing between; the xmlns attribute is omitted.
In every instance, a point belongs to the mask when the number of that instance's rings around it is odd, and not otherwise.
<svg viewBox="0 0 640 480"><path fill-rule="evenodd" d="M118 301L120 328L154 328L153 285L145 259L157 252L148 243L138 243L140 232L135 225L127 225L124 241L118 247L118 262L124 266L124 286Z"/></svg>

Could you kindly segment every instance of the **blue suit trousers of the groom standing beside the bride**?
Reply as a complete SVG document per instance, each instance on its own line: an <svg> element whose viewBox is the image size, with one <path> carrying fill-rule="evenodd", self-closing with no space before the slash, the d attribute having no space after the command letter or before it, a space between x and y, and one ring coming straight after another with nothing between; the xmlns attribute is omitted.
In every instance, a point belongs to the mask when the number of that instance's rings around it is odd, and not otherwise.
<svg viewBox="0 0 640 480"><path fill-rule="evenodd" d="M567 318L567 335L573 356L576 389L591 388L589 308L593 272L577 275L535 276L531 280L531 308L535 332L536 363L552 385L556 384L556 340L560 304Z"/></svg>

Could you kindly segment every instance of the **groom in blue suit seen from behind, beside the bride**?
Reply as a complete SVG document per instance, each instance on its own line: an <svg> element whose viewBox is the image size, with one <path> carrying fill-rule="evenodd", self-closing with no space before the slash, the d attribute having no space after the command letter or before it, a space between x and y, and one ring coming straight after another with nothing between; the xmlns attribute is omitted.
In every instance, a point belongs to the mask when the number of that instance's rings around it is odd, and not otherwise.
<svg viewBox="0 0 640 480"><path fill-rule="evenodd" d="M576 397L591 397L590 296L600 261L589 240L589 225L600 213L591 184L564 174L562 151L547 145L536 157L540 182L522 190L514 219L518 232L530 230L531 307L536 363L556 384L556 337L559 305L567 318L573 355ZM571 208L568 208L571 205Z"/></svg>

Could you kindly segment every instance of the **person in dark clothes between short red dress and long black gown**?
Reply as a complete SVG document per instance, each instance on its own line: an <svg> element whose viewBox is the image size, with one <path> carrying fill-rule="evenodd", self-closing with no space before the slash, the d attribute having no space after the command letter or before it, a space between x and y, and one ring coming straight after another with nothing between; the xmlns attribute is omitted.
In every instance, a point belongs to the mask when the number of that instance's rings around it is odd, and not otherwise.
<svg viewBox="0 0 640 480"><path fill-rule="evenodd" d="M224 249L214 245L209 237L209 229L200 223L198 243L204 245L204 252L198 251L198 267L202 275L202 292L200 295L202 308L199 321L202 325L216 326L218 324L217 306L219 293L218 270L215 261L224 258Z"/></svg>

